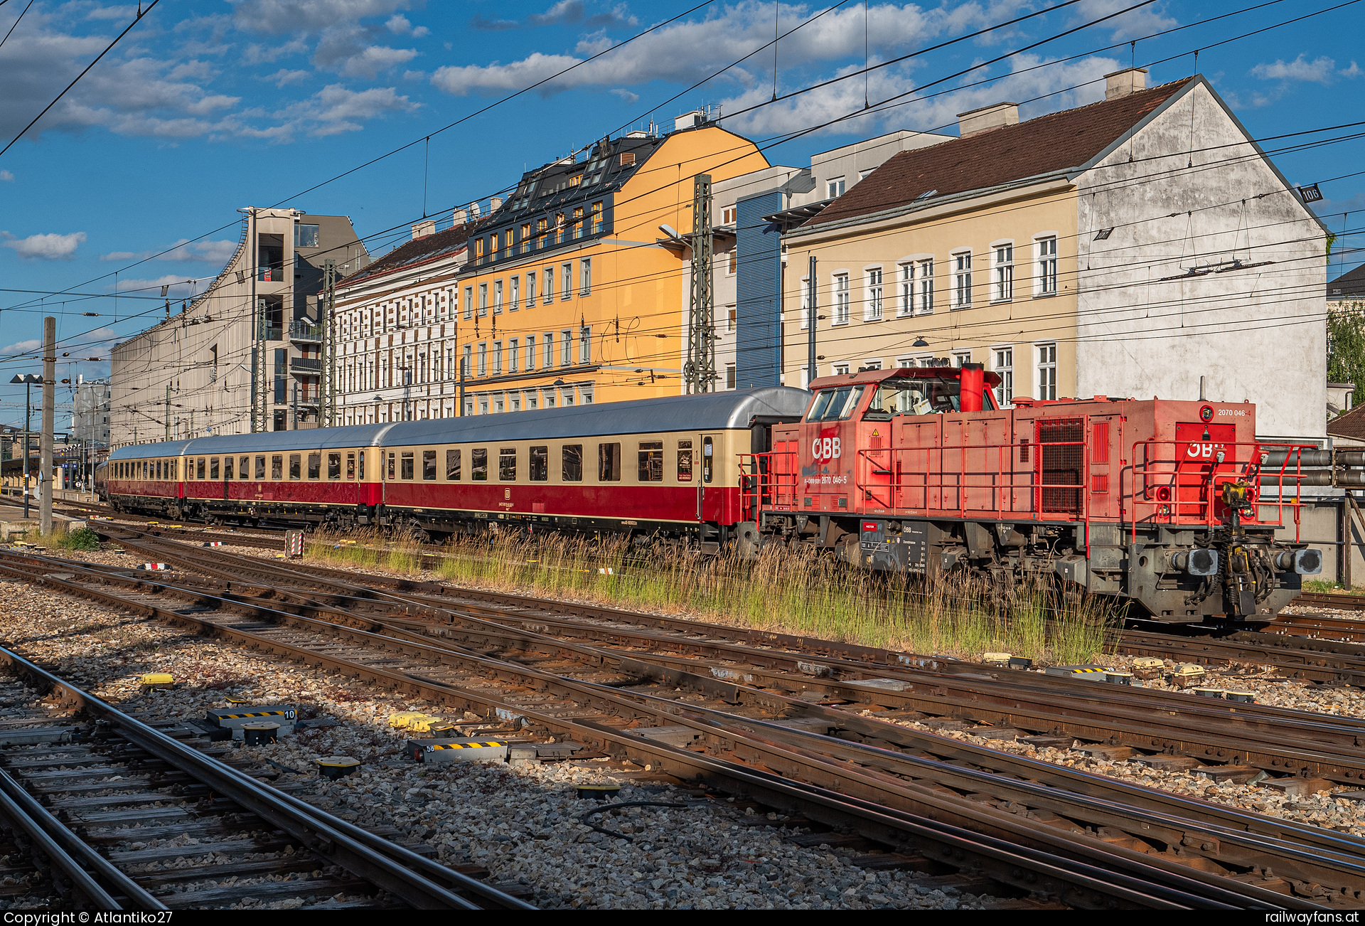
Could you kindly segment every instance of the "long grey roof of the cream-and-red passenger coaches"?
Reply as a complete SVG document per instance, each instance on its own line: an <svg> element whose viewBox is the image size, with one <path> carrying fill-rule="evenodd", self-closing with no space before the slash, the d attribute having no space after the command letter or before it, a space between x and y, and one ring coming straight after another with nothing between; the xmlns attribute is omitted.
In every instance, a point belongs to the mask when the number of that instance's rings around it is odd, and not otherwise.
<svg viewBox="0 0 1365 926"><path fill-rule="evenodd" d="M695 396L607 402L568 408L538 408L501 415L429 418L344 427L221 434L188 441L120 447L111 460L195 453L263 453L321 451L347 447L408 447L470 441L557 440L605 434L647 434L659 430L733 430L748 427L755 415L800 418L811 393L789 387L733 389Z"/></svg>

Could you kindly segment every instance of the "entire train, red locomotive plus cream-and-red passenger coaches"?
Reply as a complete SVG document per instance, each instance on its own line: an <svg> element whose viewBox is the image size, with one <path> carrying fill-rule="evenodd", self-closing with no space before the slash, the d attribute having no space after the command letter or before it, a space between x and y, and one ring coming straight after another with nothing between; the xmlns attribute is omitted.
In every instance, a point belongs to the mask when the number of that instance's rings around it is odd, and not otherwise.
<svg viewBox="0 0 1365 926"><path fill-rule="evenodd" d="M210 522L784 544L1001 583L1051 572L1173 623L1274 615L1321 570L1295 516L1299 488L1321 482L1290 462L1323 451L1257 441L1254 406L1002 407L998 385L980 365L902 367L809 392L216 436L123 447L101 478L117 508Z"/></svg>

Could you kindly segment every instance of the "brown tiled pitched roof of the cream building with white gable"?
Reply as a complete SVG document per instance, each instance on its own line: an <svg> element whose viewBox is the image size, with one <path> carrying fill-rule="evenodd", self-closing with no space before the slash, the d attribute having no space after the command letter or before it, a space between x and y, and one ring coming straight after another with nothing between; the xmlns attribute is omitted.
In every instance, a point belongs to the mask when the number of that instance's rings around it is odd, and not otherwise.
<svg viewBox="0 0 1365 926"><path fill-rule="evenodd" d="M803 228L1080 168L1194 79L900 152Z"/></svg>

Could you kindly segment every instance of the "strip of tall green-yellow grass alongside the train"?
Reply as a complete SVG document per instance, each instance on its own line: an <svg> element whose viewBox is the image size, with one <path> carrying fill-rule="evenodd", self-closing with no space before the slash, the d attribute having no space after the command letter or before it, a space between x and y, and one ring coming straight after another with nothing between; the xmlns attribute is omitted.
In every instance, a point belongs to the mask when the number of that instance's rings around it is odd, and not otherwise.
<svg viewBox="0 0 1365 926"><path fill-rule="evenodd" d="M864 646L980 658L1009 651L1039 662L1087 662L1104 651L1115 609L1063 594L1046 576L1007 587L949 575L917 579L850 568L807 548L766 546L756 559L702 556L674 545L511 531L456 535L422 546L412 537L317 535L315 560L356 568L434 572L457 585L575 598Z"/></svg>

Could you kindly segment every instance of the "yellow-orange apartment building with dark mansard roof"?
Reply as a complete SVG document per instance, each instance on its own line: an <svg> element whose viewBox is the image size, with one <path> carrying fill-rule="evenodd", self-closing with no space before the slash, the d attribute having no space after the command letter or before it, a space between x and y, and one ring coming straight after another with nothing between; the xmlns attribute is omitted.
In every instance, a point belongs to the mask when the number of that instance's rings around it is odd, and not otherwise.
<svg viewBox="0 0 1365 926"><path fill-rule="evenodd" d="M766 167L696 115L523 175L471 229L457 280L463 414L685 391L695 178Z"/></svg>

